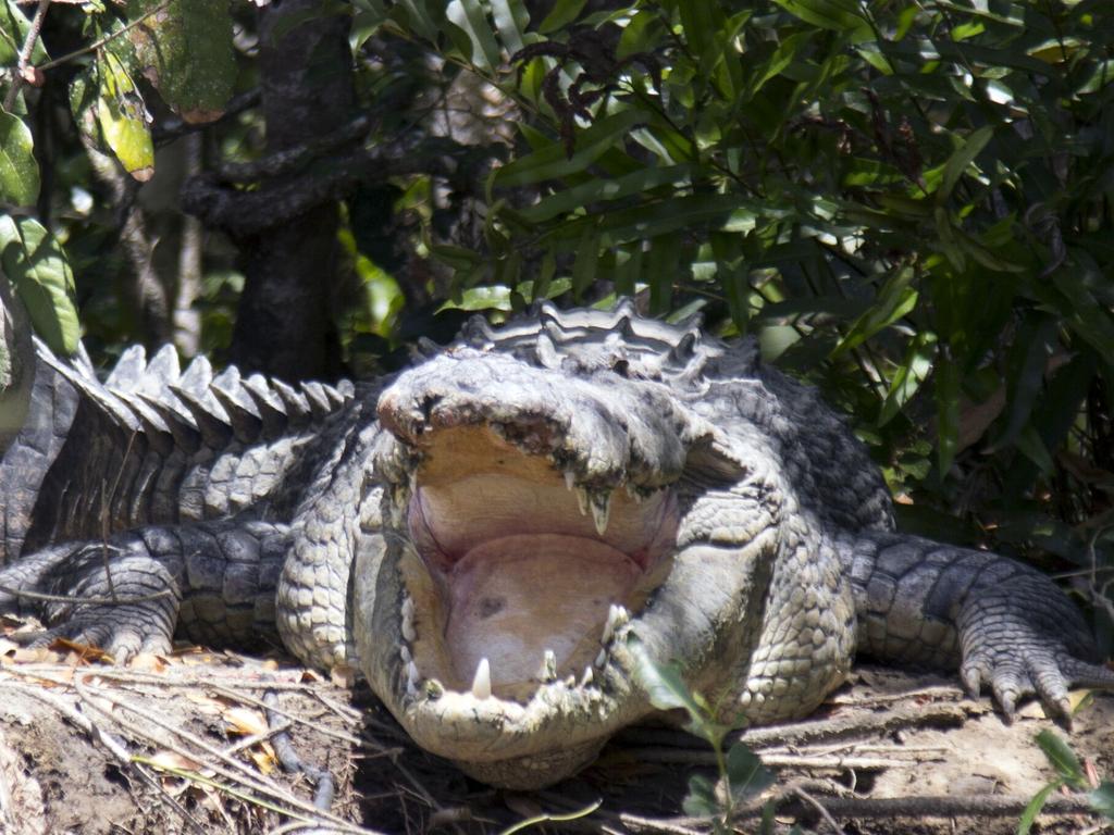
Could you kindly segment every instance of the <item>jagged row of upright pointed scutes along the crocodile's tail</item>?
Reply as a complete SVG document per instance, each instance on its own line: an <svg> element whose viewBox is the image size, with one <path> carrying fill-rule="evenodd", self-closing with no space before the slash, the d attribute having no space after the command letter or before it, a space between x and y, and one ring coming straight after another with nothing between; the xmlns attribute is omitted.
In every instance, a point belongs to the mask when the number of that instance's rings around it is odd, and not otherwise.
<svg viewBox="0 0 1114 835"><path fill-rule="evenodd" d="M312 430L354 396L348 381L335 386L291 385L262 374L245 377L235 366L214 374L204 356L183 370L172 345L164 345L149 360L143 346L127 348L104 383L84 366L58 360L43 347L39 356L116 425L143 432L164 453L174 448L187 453L201 446L222 449L233 440L267 442Z"/></svg>

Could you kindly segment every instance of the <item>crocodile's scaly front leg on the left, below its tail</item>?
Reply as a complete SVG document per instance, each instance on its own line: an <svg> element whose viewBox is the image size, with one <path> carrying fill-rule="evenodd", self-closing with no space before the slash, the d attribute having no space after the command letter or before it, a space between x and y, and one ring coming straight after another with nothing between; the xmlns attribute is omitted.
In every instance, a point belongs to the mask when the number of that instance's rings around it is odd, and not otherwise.
<svg viewBox="0 0 1114 835"><path fill-rule="evenodd" d="M66 638L118 661L167 651L176 626L202 644L277 644L274 590L287 544L286 525L232 519L51 546L0 571L0 611L43 621L29 642Z"/></svg>

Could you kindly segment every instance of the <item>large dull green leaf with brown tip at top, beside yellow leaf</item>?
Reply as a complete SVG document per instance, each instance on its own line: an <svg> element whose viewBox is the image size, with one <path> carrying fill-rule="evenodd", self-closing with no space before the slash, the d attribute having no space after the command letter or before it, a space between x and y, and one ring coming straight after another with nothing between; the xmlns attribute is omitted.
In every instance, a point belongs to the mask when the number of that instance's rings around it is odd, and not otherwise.
<svg viewBox="0 0 1114 835"><path fill-rule="evenodd" d="M128 0L128 18L137 20L163 2ZM185 121L203 124L224 114L238 72L227 0L175 0L129 29L127 38L138 71Z"/></svg>

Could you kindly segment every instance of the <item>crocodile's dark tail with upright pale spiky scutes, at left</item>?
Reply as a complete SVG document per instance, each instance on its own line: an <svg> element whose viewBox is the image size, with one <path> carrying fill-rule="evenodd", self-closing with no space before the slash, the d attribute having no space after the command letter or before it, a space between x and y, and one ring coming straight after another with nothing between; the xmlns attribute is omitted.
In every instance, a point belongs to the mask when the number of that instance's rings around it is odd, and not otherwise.
<svg viewBox="0 0 1114 835"><path fill-rule="evenodd" d="M36 344L27 422L0 462L4 561L59 538L178 521L178 489L223 452L312 432L353 397L350 383L287 385L173 346L124 352L104 382L87 360Z"/></svg>

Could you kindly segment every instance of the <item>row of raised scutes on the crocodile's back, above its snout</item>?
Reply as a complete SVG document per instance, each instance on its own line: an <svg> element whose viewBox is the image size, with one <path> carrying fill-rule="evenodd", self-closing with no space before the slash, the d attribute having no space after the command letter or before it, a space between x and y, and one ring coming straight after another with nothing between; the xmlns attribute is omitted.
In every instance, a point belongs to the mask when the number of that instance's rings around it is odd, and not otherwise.
<svg viewBox="0 0 1114 835"><path fill-rule="evenodd" d="M723 360L733 371L756 361L753 345L726 346L705 335L701 324L700 314L677 324L643 316L629 298L609 311L559 311L546 302L498 327L473 316L457 345L510 353L532 365L580 373L622 365L627 375L683 387L707 375L719 376Z"/></svg>

